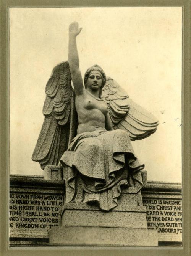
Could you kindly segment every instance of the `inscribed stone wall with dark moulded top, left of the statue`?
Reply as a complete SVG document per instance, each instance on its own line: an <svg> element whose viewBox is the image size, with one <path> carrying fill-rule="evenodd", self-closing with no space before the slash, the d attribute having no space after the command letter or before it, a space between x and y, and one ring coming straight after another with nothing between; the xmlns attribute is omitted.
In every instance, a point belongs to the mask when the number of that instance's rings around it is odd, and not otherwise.
<svg viewBox="0 0 191 256"><path fill-rule="evenodd" d="M48 238L48 230L61 221L63 192L63 181L11 176L10 238Z"/></svg>

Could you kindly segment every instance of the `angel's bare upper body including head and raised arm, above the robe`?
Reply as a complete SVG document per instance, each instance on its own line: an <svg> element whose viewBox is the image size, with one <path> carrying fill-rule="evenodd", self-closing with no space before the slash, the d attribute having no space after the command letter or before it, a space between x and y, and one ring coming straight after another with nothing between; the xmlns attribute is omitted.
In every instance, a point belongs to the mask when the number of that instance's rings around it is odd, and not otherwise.
<svg viewBox="0 0 191 256"><path fill-rule="evenodd" d="M75 104L78 113L77 134L95 130L113 130L107 103L99 99L100 89L104 86L106 76L100 67L92 69L83 84L79 69L79 57L76 45L76 36L81 32L77 22L69 26L68 63L75 91ZM97 66L97 65L95 65ZM86 85L86 89L84 86Z"/></svg>

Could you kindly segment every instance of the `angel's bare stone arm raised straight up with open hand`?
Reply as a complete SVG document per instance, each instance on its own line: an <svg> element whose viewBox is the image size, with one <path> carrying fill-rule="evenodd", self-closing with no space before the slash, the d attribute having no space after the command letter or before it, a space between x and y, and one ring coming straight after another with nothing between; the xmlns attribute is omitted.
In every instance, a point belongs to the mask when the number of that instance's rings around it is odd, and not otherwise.
<svg viewBox="0 0 191 256"><path fill-rule="evenodd" d="M83 94L84 90L83 79L79 70L79 57L76 45L76 36L79 35L81 30L82 28L78 28L78 22L73 22L69 26L68 63L76 95Z"/></svg>

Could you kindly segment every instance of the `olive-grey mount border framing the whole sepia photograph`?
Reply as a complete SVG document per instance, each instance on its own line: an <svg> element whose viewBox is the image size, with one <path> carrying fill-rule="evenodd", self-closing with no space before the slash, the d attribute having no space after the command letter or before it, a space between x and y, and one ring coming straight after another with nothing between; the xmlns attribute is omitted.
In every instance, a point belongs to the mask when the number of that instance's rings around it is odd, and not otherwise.
<svg viewBox="0 0 191 256"><path fill-rule="evenodd" d="M182 65L182 160L183 170L183 247L9 247L9 39L8 12L10 7L183 7L183 65ZM2 0L1 11L1 222L0 250L2 256L17 255L189 255L190 248L190 126L191 92L191 0Z"/></svg>

